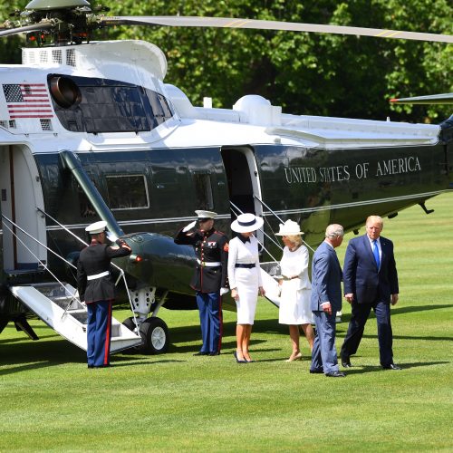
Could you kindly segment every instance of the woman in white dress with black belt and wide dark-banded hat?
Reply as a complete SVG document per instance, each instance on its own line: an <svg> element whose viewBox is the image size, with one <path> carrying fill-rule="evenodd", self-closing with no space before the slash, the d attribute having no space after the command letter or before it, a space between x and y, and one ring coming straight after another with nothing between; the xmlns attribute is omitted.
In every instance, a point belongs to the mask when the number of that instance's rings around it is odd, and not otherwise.
<svg viewBox="0 0 453 453"><path fill-rule="evenodd" d="M248 352L250 335L255 319L258 293L265 295L261 282L258 241L253 232L263 226L263 219L253 214L241 214L231 224L239 233L231 239L228 250L228 281L231 297L236 301L236 352L237 363L253 361Z"/></svg>

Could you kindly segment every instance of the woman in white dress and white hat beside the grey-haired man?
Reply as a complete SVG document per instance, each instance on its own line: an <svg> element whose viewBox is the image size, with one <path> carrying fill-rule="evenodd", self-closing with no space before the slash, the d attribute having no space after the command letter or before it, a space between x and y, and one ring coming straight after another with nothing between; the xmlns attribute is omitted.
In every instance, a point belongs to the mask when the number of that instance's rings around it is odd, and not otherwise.
<svg viewBox="0 0 453 453"><path fill-rule="evenodd" d="M308 249L303 245L300 226L293 220L280 224L278 236L282 236L284 252L280 261L283 279L281 285L280 309L278 322L289 325L289 335L293 352L287 361L302 359L299 346L299 325L302 325L305 337L313 349L314 332L310 296L312 284L308 277Z"/></svg>

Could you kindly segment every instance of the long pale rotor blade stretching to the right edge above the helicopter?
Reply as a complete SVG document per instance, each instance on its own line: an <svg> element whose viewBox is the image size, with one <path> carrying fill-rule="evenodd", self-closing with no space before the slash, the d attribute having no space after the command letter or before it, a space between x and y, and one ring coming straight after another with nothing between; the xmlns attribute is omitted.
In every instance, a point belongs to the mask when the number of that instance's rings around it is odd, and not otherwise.
<svg viewBox="0 0 453 453"><path fill-rule="evenodd" d="M328 34L355 34L356 36L374 36L377 38L410 39L453 43L453 35L403 32L382 30L381 28L361 28L339 25L299 24L294 22L258 21L252 19L234 19L226 17L193 17L193 16L104 16L102 24L141 24L168 25L185 27L218 27L218 28L252 28L255 30L285 30L289 32L312 32Z"/></svg>

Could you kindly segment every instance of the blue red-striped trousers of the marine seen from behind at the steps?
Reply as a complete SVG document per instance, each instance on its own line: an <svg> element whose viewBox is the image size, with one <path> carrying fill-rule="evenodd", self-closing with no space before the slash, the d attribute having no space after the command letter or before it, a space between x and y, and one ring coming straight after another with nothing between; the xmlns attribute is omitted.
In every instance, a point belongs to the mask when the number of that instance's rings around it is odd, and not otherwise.
<svg viewBox="0 0 453 453"><path fill-rule="evenodd" d="M89 366L110 364L111 353L111 302L98 301L86 304L87 359Z"/></svg>

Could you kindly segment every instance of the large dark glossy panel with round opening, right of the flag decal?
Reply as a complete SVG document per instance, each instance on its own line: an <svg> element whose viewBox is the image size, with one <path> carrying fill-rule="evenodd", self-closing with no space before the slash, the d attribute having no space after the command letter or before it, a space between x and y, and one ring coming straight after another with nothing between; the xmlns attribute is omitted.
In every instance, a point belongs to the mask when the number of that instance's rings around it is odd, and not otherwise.
<svg viewBox="0 0 453 453"><path fill-rule="evenodd" d="M173 113L163 95L127 82L52 74L53 108L72 132L153 130Z"/></svg>

